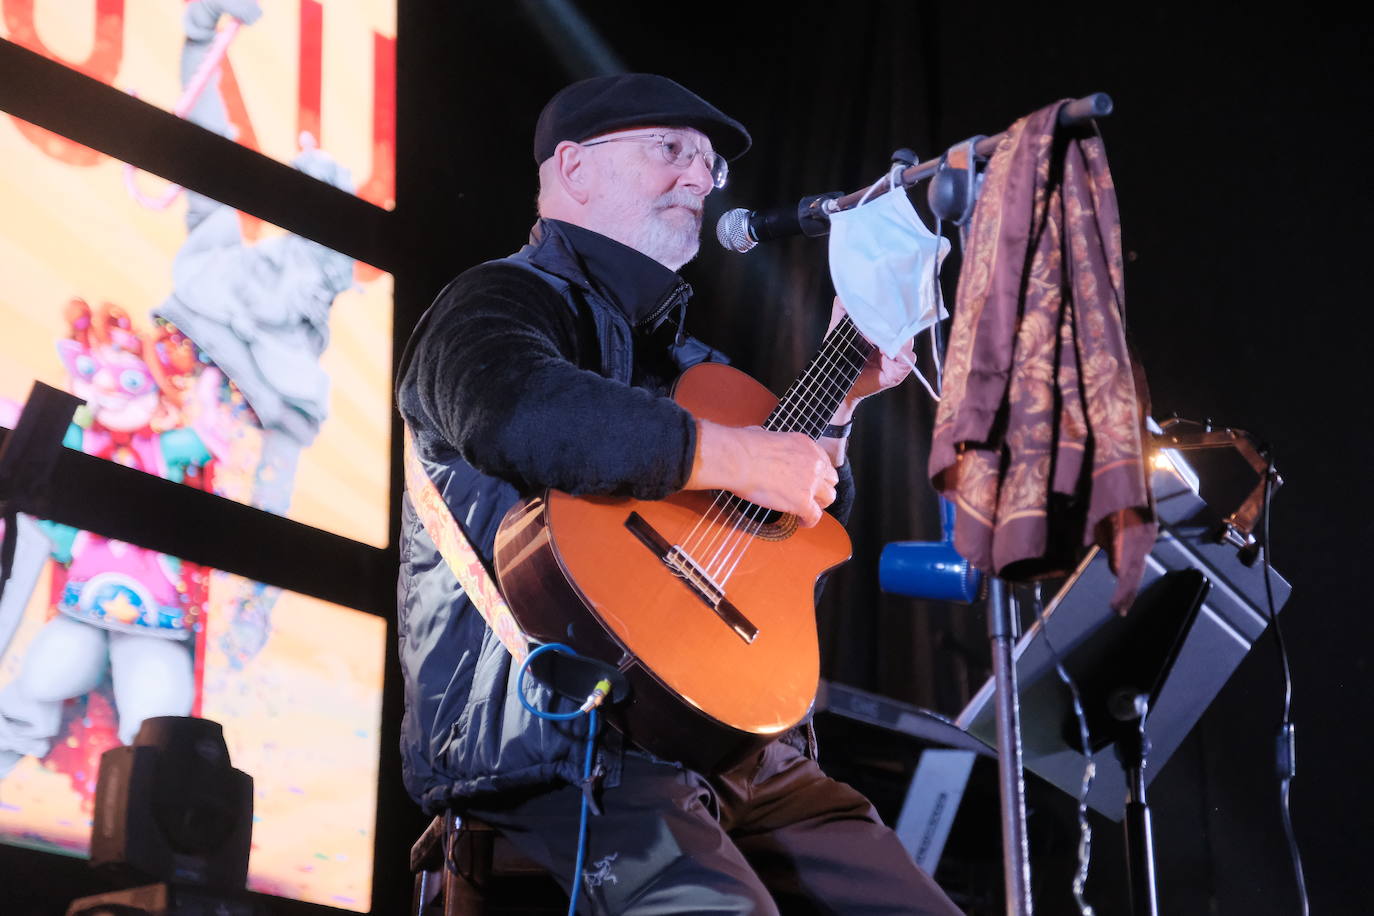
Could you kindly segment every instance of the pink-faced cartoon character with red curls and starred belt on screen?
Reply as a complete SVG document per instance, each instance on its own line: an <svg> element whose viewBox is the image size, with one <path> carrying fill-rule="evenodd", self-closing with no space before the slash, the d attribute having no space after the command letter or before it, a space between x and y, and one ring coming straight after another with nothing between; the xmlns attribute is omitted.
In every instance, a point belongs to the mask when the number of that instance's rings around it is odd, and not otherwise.
<svg viewBox="0 0 1374 916"><path fill-rule="evenodd" d="M73 394L85 400L66 445L209 489L213 455L183 426L201 368L190 342L166 325L140 334L111 305L92 310L73 299L66 317L70 338L58 352ZM150 715L192 711L206 570L65 525L40 526L52 542L52 617L0 689L0 776L23 755L41 757L89 798L104 750L129 743ZM77 698L84 710L69 705ZM55 743L65 726L66 740Z"/></svg>

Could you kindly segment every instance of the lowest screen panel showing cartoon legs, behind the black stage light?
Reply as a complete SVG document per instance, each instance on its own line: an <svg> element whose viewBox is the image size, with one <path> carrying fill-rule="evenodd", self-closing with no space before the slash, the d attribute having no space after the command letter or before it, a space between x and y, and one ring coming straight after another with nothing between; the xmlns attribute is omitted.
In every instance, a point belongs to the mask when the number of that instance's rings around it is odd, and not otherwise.
<svg viewBox="0 0 1374 916"><path fill-rule="evenodd" d="M385 621L89 531L18 527L0 599L0 842L84 856L100 754L147 717L199 715L254 777L249 889L365 911Z"/></svg>

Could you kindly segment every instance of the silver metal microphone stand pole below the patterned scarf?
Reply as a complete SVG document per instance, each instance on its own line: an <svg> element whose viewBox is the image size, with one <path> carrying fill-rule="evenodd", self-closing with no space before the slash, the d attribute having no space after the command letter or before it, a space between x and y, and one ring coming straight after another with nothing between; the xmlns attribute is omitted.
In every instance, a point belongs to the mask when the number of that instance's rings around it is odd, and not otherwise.
<svg viewBox="0 0 1374 916"><path fill-rule="evenodd" d="M1026 842L1026 787L1021 772L1021 702L1011 659L1014 621L1007 585L988 580L988 639L992 643L993 702L998 713L998 776L1002 797L1002 869L1007 916L1030 916L1030 849Z"/></svg>

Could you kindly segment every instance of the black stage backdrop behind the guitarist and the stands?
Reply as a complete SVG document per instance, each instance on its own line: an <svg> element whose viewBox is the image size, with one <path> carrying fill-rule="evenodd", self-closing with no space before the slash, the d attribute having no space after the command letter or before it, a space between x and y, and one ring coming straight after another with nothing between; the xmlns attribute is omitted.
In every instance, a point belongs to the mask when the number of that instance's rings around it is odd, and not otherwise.
<svg viewBox="0 0 1374 916"><path fill-rule="evenodd" d="M561 19L567 8L580 16ZM276 221L390 269L404 336L452 275L523 240L534 117L570 78L609 66L677 78L749 125L754 148L732 163L708 225L730 206L855 190L885 172L896 147L929 158L1055 99L1113 96L1116 114L1101 126L1121 205L1128 332L1157 417L1212 417L1274 445L1286 485L1272 511L1272 560L1294 586L1283 614L1298 732L1293 817L1314 911L1362 912L1374 847L1366 836L1374 806L1358 781L1370 750L1374 639L1364 597L1374 548L1363 276L1374 152L1369 22L1197 5L1051 14L954 3L403 0L393 217L364 217L368 228L349 238L324 216ZM276 174L262 168L256 177ZM271 195L258 198L271 218ZM320 213L350 206L326 195ZM824 327L822 246L794 240L735 255L708 240L684 269L697 288L688 327L780 390ZM930 416L914 382L859 413L855 559L820 608L823 673L954 714L988 673L981 612L883 596L875 574L885 542L937 534L925 477ZM393 747L394 685L387 700ZM1162 912L1297 912L1272 776L1281 702L1265 637L1156 780ZM871 779L882 803L915 750L867 733L822 753L856 780ZM390 755L383 781L374 909L389 913L408 897L405 854L423 821L398 791ZM978 912L1000 911L993 794L992 773L977 770L941 875ZM1073 912L1072 802L1036 783L1030 795L1037 912ZM1099 913L1125 912L1118 831L1094 823L1090 901ZM7 875L18 861L0 850ZM33 857L22 862L41 868ZM74 886L63 880L29 912L70 898Z"/></svg>

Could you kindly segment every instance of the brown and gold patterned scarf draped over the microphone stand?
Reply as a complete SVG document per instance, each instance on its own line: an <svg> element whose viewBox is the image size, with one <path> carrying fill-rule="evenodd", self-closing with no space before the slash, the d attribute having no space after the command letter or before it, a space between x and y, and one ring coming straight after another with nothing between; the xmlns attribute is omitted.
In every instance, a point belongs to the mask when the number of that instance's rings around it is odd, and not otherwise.
<svg viewBox="0 0 1374 916"><path fill-rule="evenodd" d="M1070 571L1101 545L1112 606L1156 538L1136 378L1123 331L1121 229L1102 140L1055 137L1059 107L998 144L959 277L930 478L955 547L1007 580Z"/></svg>

